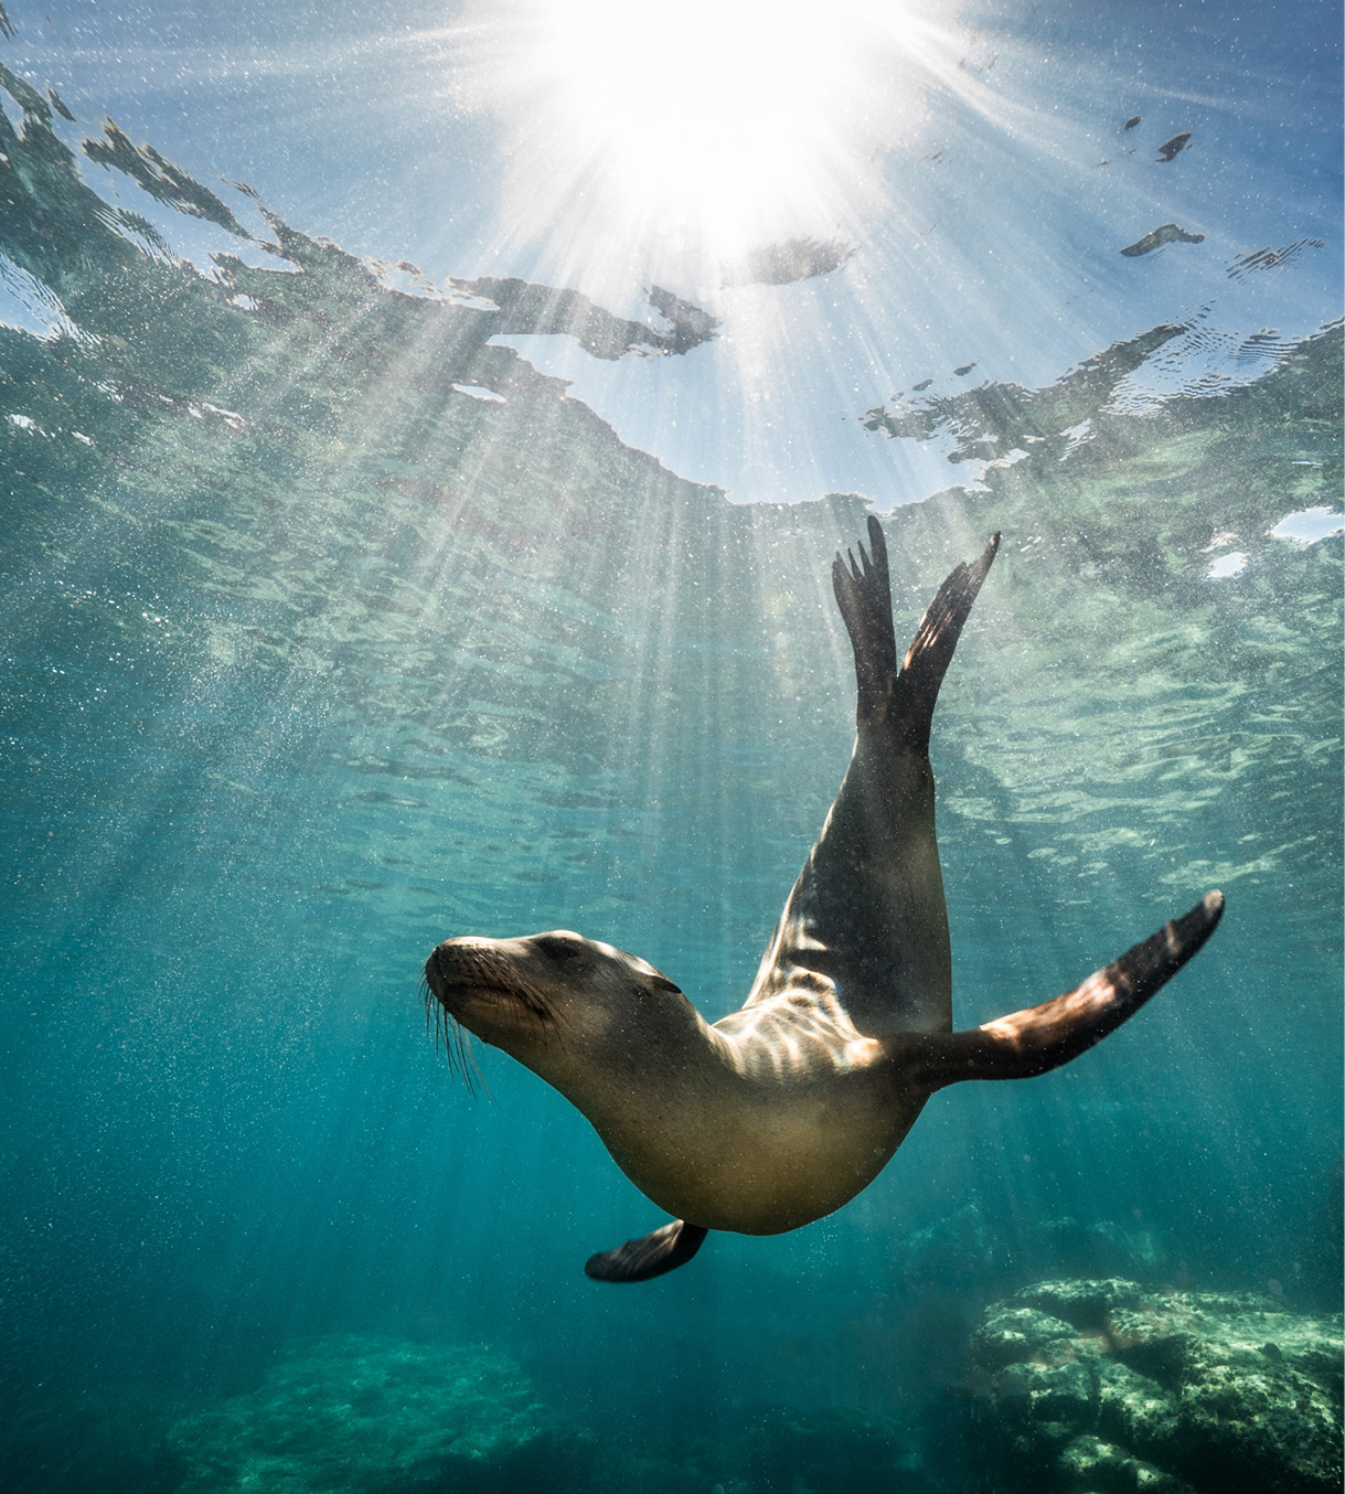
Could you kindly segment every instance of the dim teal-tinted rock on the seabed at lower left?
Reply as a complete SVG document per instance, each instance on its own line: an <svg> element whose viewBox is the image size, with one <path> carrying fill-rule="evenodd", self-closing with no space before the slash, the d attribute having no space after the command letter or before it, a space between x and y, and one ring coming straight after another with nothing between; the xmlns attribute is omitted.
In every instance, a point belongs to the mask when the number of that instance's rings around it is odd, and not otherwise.
<svg viewBox="0 0 1345 1494"><path fill-rule="evenodd" d="M575 1482L587 1440L490 1349L342 1336L169 1433L182 1494L399 1494ZM538 1484L541 1487L541 1484Z"/></svg>

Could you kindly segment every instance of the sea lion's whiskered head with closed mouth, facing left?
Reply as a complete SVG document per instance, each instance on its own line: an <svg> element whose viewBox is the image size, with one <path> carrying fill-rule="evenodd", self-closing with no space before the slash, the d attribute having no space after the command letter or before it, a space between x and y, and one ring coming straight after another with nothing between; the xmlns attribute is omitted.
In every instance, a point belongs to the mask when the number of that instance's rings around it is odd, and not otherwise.
<svg viewBox="0 0 1345 1494"><path fill-rule="evenodd" d="M551 929L450 938L424 965L427 1004L504 1049L575 1103L575 1080L644 1067L698 1026L695 1008L638 955Z"/></svg>

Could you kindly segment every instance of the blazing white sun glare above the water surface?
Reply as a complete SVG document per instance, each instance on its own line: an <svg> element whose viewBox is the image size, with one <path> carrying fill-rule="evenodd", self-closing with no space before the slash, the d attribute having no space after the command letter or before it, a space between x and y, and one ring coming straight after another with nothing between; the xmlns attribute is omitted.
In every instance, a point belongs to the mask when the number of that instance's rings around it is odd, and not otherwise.
<svg viewBox="0 0 1345 1494"><path fill-rule="evenodd" d="M829 233L918 112L903 0L477 0L456 87L505 131L510 232L723 260Z"/></svg>

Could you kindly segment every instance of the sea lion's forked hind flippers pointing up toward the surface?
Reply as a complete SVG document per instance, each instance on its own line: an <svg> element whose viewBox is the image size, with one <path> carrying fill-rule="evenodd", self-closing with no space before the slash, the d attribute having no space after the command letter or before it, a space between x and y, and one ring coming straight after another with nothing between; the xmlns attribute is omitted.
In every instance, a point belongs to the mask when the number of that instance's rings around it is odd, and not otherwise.
<svg viewBox="0 0 1345 1494"><path fill-rule="evenodd" d="M847 551L849 565L837 554L831 584L850 642L859 684L856 719L861 726L889 722L910 746L927 750L939 686L952 663L962 624L985 581L1000 536L991 535L980 557L959 565L939 587L897 671L897 636L892 627L892 584L888 575L888 542L879 521L868 517L871 554L859 545L859 560Z"/></svg>

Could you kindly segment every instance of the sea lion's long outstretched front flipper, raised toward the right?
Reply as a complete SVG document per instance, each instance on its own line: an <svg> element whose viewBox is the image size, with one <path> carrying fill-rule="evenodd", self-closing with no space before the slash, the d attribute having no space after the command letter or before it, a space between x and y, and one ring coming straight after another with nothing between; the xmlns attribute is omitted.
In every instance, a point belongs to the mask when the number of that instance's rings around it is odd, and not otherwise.
<svg viewBox="0 0 1345 1494"><path fill-rule="evenodd" d="M1208 892L1184 917L1063 996L968 1032L919 1038L910 1050L910 1079L942 1089L959 1079L1031 1079L1060 1068L1139 1011L1213 934L1222 913L1222 892Z"/></svg>

